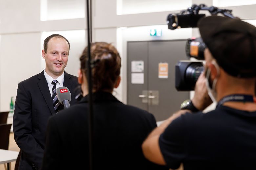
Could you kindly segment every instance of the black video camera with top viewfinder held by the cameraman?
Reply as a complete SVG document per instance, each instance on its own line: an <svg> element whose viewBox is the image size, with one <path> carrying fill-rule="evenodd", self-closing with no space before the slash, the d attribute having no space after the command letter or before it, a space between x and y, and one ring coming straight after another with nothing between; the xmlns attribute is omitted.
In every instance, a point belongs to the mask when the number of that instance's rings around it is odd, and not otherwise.
<svg viewBox="0 0 256 170"><path fill-rule="evenodd" d="M205 4L192 5L187 10L181 11L179 14L169 14L167 17L168 29L176 28L195 28L197 22L205 17L205 14L198 14L199 10L208 10L211 15L223 14L226 17L235 18L232 10L218 9L217 7L207 7ZM204 49L206 48L202 38L188 39L186 42L186 55L195 58L198 61L192 62L179 61L175 65L175 88L178 91L189 91L195 89L195 84L204 71Z"/></svg>

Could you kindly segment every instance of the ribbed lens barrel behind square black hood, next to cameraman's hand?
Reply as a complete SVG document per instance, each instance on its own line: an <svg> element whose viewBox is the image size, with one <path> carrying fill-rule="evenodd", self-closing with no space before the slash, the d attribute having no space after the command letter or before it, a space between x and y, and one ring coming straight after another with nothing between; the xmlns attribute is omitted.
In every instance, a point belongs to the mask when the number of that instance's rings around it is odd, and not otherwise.
<svg viewBox="0 0 256 170"><path fill-rule="evenodd" d="M200 62L192 62L186 69L185 81L192 89L195 88L196 81L200 74L204 71L203 64Z"/></svg>

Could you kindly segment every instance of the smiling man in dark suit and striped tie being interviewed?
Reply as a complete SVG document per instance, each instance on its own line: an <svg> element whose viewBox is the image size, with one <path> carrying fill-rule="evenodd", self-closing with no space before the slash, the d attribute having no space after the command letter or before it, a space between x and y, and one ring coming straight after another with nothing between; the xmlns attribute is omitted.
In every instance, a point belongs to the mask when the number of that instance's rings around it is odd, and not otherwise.
<svg viewBox="0 0 256 170"><path fill-rule="evenodd" d="M77 77L64 71L68 62L68 40L53 34L44 40L42 57L45 69L18 84L13 116L14 138L22 151L19 170L40 169L45 147L48 118L63 109L56 89L66 86L71 92L70 105L80 93Z"/></svg>

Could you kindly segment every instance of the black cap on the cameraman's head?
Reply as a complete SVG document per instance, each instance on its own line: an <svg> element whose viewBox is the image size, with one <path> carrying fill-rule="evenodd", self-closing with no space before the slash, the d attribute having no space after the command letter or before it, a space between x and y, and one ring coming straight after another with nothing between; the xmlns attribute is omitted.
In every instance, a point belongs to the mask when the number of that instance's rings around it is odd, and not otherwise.
<svg viewBox="0 0 256 170"><path fill-rule="evenodd" d="M241 78L256 77L256 27L222 16L198 22L203 41L225 72Z"/></svg>

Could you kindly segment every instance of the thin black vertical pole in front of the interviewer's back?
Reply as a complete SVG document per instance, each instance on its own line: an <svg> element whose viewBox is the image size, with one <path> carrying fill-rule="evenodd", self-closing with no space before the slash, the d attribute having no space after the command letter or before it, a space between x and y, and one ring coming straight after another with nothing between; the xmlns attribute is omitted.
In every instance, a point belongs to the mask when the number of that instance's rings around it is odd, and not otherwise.
<svg viewBox="0 0 256 170"><path fill-rule="evenodd" d="M87 81L88 81L88 92L89 92L89 114L88 114L88 130L89 130L89 169L93 169L93 101L92 101L92 68L91 68L91 40L92 35L91 33L91 20L92 16L91 14L91 1L89 4L89 0L87 0L86 4L86 10L87 10L87 40L88 40L88 61L87 61L87 67L88 68L88 74L87 74Z"/></svg>

